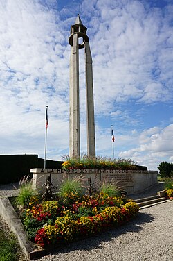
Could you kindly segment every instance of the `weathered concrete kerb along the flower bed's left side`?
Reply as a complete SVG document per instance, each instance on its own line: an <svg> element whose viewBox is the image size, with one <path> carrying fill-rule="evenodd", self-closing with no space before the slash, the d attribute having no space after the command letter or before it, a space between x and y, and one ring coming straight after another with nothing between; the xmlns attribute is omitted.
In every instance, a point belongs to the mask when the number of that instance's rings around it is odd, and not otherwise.
<svg viewBox="0 0 173 261"><path fill-rule="evenodd" d="M28 240L24 226L7 197L0 198L0 214L8 224L10 230L17 236L21 250L29 260L39 258L46 254L44 249Z"/></svg>

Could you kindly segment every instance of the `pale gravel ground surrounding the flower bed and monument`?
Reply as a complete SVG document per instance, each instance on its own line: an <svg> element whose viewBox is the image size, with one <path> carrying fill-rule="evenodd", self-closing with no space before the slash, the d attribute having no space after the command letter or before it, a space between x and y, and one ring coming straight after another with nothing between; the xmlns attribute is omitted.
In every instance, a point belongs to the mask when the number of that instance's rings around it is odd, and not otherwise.
<svg viewBox="0 0 173 261"><path fill-rule="evenodd" d="M131 195L131 198L156 194L158 187ZM1 188L0 196L17 194L17 190L11 190L13 185ZM37 261L173 261L172 213L173 201L145 208L128 224L51 251Z"/></svg>

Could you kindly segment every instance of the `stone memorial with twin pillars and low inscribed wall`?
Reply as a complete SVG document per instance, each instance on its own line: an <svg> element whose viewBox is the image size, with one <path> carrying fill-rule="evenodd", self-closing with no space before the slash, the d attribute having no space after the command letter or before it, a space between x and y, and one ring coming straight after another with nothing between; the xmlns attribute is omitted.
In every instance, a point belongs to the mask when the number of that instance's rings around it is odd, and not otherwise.
<svg viewBox="0 0 173 261"><path fill-rule="evenodd" d="M69 130L69 153L71 156L80 156L80 90L79 90L79 50L85 51L86 70L86 124L87 124L87 153L95 157L95 123L93 103L93 67L89 47L89 37L86 35L87 28L82 24L80 16L71 26L69 44L71 45L70 59L70 130ZM82 38L82 44L79 43ZM118 182L128 193L135 193L157 183L157 171L143 170L116 170L116 169L31 169L33 173L33 188L38 192L44 192L42 184L46 176L51 176L53 186L60 187L61 180L84 176L84 187L90 183L106 179L108 182ZM47 192L49 187L47 188Z"/></svg>

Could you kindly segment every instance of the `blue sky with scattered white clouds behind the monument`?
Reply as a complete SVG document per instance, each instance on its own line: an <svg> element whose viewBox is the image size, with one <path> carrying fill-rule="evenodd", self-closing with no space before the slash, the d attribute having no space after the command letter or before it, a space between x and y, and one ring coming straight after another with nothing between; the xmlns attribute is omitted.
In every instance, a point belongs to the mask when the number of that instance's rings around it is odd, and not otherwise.
<svg viewBox="0 0 173 261"><path fill-rule="evenodd" d="M173 0L0 0L0 154L69 154L71 24L93 58L96 155L173 162ZM80 143L86 153L84 49Z"/></svg>

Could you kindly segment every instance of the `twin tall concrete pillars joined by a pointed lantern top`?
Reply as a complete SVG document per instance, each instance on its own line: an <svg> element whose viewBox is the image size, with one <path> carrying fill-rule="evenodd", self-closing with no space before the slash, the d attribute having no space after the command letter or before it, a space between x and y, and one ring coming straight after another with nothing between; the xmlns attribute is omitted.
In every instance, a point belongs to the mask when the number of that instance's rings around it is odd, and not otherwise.
<svg viewBox="0 0 173 261"><path fill-rule="evenodd" d="M86 69L86 125L87 154L95 157L95 121L93 103L93 66L87 28L82 24L80 16L71 26L69 44L71 45L70 60L70 156L80 156L80 94L79 94L79 49L85 49ZM78 38L82 37L82 44Z"/></svg>

